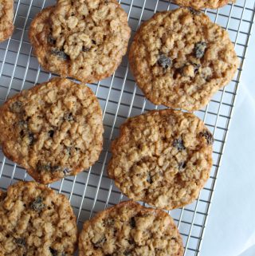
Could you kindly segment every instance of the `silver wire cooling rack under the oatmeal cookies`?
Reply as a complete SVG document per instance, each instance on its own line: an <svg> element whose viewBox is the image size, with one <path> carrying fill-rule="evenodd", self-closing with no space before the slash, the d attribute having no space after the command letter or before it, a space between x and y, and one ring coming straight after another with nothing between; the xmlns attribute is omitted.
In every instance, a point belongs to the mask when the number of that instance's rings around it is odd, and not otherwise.
<svg viewBox="0 0 255 256"><path fill-rule="evenodd" d="M0 44L0 104L7 97L28 89L34 84L49 80L52 76L40 68L37 58L28 39L29 24L34 16L46 6L52 6L53 0L15 0L15 31L10 40ZM128 22L132 34L139 25L151 18L157 11L175 9L170 1L156 0L122 0L124 10L128 13ZM229 31L240 58L240 67L233 81L220 90L210 104L196 112L213 132L214 166L210 179L194 203L171 211L171 216L179 227L185 246L185 255L198 255L202 244L206 219L210 210L222 154L229 131L233 105L241 78L241 70L245 61L245 53L249 45L249 35L253 25L255 0L237 0L220 10L206 10L213 22L217 22ZM136 116L149 109L156 108L135 85L128 69L127 57L112 77L90 85L104 113L104 150L100 160L88 171L75 177L68 177L50 185L53 189L65 194L77 215L77 225L81 228L85 220L96 212L127 199L121 195L106 174L108 160L111 156L111 141L118 136L120 124L129 116ZM161 108L160 106L158 108ZM1 136L1 135L0 135ZM6 188L20 179L31 180L26 171L8 160L0 150L0 188Z"/></svg>

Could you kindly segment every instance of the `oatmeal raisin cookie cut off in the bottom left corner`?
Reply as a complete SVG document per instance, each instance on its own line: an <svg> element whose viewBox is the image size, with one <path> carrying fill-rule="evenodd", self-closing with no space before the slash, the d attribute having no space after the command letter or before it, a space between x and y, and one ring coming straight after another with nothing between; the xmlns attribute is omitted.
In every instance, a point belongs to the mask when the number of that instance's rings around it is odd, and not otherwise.
<svg viewBox="0 0 255 256"><path fill-rule="evenodd" d="M71 256L77 238L76 217L65 195L35 182L18 182L8 188L0 203L3 255Z"/></svg>

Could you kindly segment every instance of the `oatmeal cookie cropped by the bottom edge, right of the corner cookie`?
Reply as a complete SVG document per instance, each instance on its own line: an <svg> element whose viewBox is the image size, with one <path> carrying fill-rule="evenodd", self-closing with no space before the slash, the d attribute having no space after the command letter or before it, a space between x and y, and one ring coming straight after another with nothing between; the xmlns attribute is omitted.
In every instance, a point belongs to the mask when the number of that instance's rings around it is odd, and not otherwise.
<svg viewBox="0 0 255 256"><path fill-rule="evenodd" d="M182 256L182 238L170 215L132 201L84 223L79 256Z"/></svg>

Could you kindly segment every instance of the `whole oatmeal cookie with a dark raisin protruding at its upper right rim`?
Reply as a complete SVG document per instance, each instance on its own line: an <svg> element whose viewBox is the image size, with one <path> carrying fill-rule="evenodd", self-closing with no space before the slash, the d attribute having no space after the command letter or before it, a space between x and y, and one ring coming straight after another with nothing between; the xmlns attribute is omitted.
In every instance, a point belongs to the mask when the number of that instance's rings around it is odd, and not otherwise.
<svg viewBox="0 0 255 256"><path fill-rule="evenodd" d="M166 210L183 207L209 178L213 142L191 113L147 112L121 125L108 175L130 199Z"/></svg>

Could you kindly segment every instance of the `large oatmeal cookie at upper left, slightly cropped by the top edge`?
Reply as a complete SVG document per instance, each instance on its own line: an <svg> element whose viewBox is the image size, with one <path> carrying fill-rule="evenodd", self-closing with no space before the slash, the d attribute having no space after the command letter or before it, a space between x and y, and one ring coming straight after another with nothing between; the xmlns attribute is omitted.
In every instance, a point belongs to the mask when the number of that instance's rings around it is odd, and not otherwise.
<svg viewBox="0 0 255 256"><path fill-rule="evenodd" d="M130 33L115 0L59 0L34 18L29 38L44 69L92 83L114 73Z"/></svg>

